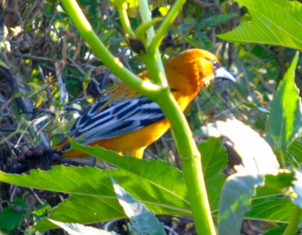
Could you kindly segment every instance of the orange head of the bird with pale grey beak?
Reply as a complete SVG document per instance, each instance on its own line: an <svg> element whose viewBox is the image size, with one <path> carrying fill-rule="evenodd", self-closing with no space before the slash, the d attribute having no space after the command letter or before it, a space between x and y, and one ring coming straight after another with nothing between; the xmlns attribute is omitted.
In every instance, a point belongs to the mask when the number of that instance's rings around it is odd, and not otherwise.
<svg viewBox="0 0 302 235"><path fill-rule="evenodd" d="M171 84L178 80L184 92L185 90L199 92L202 86L208 86L214 78L236 81L232 74L221 67L215 55L201 49L190 49L179 53L165 64L165 70L170 87L180 87L179 84ZM177 74L183 75L182 78L174 79ZM173 81L169 78L173 78ZM185 85L188 83L190 86ZM190 90L190 88L196 90Z"/></svg>

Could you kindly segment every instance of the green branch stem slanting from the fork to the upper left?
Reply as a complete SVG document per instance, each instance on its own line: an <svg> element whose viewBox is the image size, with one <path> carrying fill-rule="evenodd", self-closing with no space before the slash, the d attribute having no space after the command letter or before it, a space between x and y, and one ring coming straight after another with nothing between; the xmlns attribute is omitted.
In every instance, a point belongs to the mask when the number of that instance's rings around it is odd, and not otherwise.
<svg viewBox="0 0 302 235"><path fill-rule="evenodd" d="M102 62L128 86L134 88L140 94L154 99L156 94L162 88L152 82L140 79L135 74L127 70L127 68L120 62L118 57L115 57L113 54L111 54L111 52L92 30L91 25L87 21L75 0L61 0L61 2L84 40L89 44L91 50L94 51Z"/></svg>

